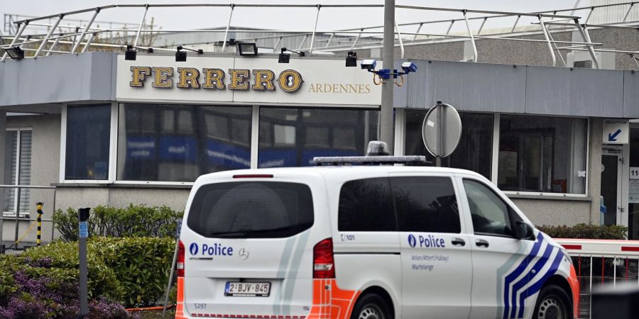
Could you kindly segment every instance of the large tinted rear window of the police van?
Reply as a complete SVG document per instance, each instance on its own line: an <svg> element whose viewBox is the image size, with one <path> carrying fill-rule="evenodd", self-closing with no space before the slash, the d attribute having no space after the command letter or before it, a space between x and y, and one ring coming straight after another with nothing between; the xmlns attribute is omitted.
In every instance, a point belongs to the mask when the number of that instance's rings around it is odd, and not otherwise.
<svg viewBox="0 0 639 319"><path fill-rule="evenodd" d="M279 181L204 185L193 198L187 225L204 237L290 237L313 225L311 191Z"/></svg>

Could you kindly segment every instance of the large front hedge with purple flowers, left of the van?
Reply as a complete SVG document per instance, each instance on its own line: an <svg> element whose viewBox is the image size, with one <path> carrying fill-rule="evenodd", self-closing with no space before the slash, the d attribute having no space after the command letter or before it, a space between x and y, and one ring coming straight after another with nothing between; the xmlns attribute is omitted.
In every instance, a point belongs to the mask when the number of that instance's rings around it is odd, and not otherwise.
<svg viewBox="0 0 639 319"><path fill-rule="evenodd" d="M172 238L89 238L89 318L129 318L121 305L163 297L174 248ZM77 242L0 256L0 318L75 318L78 267Z"/></svg>

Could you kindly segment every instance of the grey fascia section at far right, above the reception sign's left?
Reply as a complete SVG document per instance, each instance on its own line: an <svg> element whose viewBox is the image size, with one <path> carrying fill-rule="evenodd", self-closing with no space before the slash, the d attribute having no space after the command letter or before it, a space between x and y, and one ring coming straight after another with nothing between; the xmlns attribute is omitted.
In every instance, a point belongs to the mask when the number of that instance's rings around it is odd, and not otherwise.
<svg viewBox="0 0 639 319"><path fill-rule="evenodd" d="M623 73L527 67L525 113L622 117Z"/></svg>

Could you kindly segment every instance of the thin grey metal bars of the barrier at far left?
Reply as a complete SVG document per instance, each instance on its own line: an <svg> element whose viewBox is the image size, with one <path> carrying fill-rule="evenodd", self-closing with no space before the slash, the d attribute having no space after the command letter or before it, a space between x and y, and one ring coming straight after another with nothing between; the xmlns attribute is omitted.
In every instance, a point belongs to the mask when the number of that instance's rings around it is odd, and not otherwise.
<svg viewBox="0 0 639 319"><path fill-rule="evenodd" d="M51 209L50 212L53 215L53 212L55 211L55 186L35 186L35 185L0 185L0 190L2 189L16 189L16 193L15 193L15 198L17 201L17 205L14 206L15 211L14 212L9 212L9 213L14 213L15 216L10 216L10 217L5 217L4 216L4 212L2 212L2 214L0 215L0 253L4 253L4 251L6 249L11 248L11 250L21 250L19 243L21 242L21 240L23 240L24 237L26 237L26 235L28 235L28 233L31 232L31 229L33 227L35 227L36 223L38 223L38 228L40 228L40 225L42 222L46 222L46 223L51 223L51 237L50 237L50 241L53 241L53 237L54 237L54 231L53 231L53 219L51 218L41 218L40 214L38 214L38 209L40 210L40 212L42 211L42 207L40 205L37 205L35 203L35 201L33 202L33 211L30 211L29 213L33 213L33 214L28 214L26 212L21 212L21 199L22 199L22 194L23 194L23 189L50 189L53 190L53 198L51 198L52 200L50 201L51 203ZM38 204L40 202L43 202L43 198L44 196L39 196L40 198L37 198ZM4 211L4 209L2 209L2 211ZM32 217L33 216L33 217ZM15 237L13 238L13 241L11 242L11 245L9 245L9 247L5 247L4 244L4 222L5 220L10 220L13 221L15 223ZM28 228L28 231L23 234L22 237L20 236L20 225L23 223L27 223L27 224L31 224L31 227ZM36 239L37 240L37 239Z"/></svg>

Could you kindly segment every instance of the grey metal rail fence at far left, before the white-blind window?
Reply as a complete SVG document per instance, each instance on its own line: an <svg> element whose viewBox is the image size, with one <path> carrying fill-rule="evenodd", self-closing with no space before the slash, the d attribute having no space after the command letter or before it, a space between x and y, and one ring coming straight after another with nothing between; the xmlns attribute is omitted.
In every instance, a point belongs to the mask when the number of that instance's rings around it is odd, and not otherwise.
<svg viewBox="0 0 639 319"><path fill-rule="evenodd" d="M7 189L10 191L6 191ZM35 223L38 221L38 215L35 213L36 202L44 203L44 216L48 216L48 218L40 219L45 225L43 233L46 234L42 239L45 242L53 241L54 228L51 216L53 216L55 211L54 186L0 185L0 190L2 191L0 197L4 197L4 201L0 201L2 203L0 253L4 253L8 249L23 250L26 247L35 245L37 235L34 229ZM8 198L9 201L7 201ZM33 203L31 203L32 201ZM11 208L13 211L11 211ZM28 208L28 211L24 211L25 208ZM15 235L13 240L7 241L5 240L5 231L11 232L11 228L13 228Z"/></svg>

